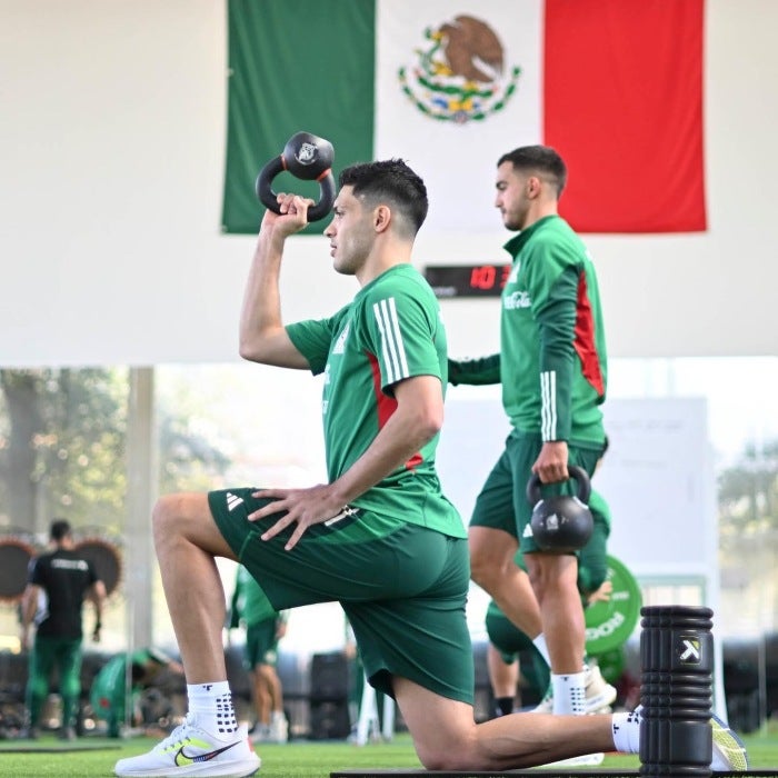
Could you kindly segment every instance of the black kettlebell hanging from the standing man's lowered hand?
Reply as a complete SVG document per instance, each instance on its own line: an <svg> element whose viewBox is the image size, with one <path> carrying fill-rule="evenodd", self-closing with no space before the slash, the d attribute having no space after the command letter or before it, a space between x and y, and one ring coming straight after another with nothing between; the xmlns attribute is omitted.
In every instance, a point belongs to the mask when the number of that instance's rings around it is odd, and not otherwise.
<svg viewBox="0 0 778 778"><path fill-rule="evenodd" d="M586 470L576 465L568 467L570 478L578 481L578 495L555 495L542 498L540 477L532 473L527 482L527 500L532 508L530 526L535 542L542 551L570 553L584 548L595 529L587 505L591 483Z"/></svg>

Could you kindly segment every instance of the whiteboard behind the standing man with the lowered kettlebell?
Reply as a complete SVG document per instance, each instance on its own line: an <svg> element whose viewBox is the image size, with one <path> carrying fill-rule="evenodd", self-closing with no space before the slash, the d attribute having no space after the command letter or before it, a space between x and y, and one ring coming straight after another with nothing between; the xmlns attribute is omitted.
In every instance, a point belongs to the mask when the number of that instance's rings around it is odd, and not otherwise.
<svg viewBox="0 0 778 778"><path fill-rule="evenodd" d="M700 398L608 401L608 453L594 481L612 512L608 552L640 576L709 578L717 595L716 481ZM467 525L510 427L493 387L451 389L437 465Z"/></svg>

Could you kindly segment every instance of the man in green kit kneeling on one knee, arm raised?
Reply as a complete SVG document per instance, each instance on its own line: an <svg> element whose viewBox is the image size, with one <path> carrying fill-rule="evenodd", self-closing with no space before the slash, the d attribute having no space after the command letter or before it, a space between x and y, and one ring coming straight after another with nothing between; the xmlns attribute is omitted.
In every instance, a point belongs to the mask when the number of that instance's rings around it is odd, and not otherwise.
<svg viewBox="0 0 778 778"><path fill-rule="evenodd" d="M428 769L528 767L594 749L636 752L637 714L475 722L467 533L435 469L446 332L431 288L411 265L427 215L423 182L401 160L341 172L325 235L336 270L355 276L360 289L332 317L288 326L281 259L287 239L308 221L310 200L278 194L278 203L280 213L266 212L260 227L240 352L323 375L328 482L157 502L154 543L189 714L151 751L119 760L116 775L242 777L259 769L227 681L215 557L246 566L275 610L339 601L369 682L397 700Z"/></svg>

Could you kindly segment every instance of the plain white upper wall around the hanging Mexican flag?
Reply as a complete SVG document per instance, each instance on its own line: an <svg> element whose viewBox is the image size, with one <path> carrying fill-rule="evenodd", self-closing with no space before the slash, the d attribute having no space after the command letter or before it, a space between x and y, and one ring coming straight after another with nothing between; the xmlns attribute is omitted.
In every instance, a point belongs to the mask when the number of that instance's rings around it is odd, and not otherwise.
<svg viewBox="0 0 778 778"><path fill-rule="evenodd" d="M219 230L225 13L221 0L0 0L0 366L237 358L253 239ZM709 231L587 237L614 357L778 353L776 29L774 0L708 0ZM502 261L507 237L496 215L493 235L422 235L416 257ZM356 288L307 237L283 286L289 320ZM495 300L443 305L453 353L497 348Z"/></svg>

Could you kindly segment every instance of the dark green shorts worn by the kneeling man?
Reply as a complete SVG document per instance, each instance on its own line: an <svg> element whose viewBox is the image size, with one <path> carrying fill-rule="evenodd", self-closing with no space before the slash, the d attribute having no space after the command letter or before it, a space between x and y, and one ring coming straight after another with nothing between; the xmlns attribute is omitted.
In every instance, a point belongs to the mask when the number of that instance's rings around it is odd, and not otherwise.
<svg viewBox="0 0 778 778"><path fill-rule="evenodd" d="M248 520L270 501L255 499L253 491L212 491L208 500L219 531L275 610L338 601L379 691L391 695L397 675L472 704L466 539L356 509L310 527L286 551L292 529L268 541L260 537L279 515Z"/></svg>

